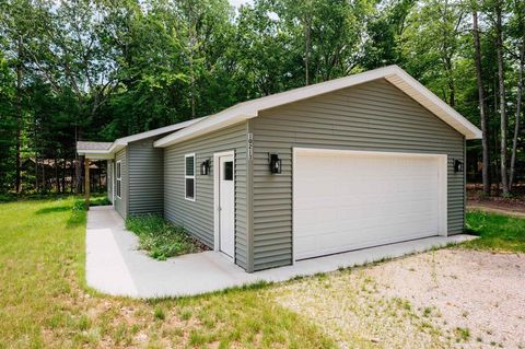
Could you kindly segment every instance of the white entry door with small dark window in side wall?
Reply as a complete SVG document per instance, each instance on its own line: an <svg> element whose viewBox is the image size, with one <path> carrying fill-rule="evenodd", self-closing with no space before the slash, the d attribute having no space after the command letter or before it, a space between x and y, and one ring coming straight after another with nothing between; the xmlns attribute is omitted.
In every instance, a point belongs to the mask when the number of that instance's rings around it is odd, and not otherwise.
<svg viewBox="0 0 525 349"><path fill-rule="evenodd" d="M235 253L235 184L233 155L219 156L219 246L230 257Z"/></svg>

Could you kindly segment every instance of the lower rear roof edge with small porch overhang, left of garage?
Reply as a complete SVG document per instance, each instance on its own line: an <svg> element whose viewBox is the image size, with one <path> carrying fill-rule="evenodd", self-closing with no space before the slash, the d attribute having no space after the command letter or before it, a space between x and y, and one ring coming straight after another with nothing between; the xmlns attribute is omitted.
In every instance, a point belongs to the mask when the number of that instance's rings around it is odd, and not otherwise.
<svg viewBox="0 0 525 349"><path fill-rule="evenodd" d="M173 124L170 126L155 128L153 130L149 130L145 132L140 132L122 138L116 139L114 142L86 142L86 141L78 141L77 142L77 152L79 155L90 155L92 158L104 158L109 159L112 154L116 153L117 151L121 150L128 143L135 142L138 140L142 140L150 137L161 136L164 133L170 133L194 125L200 121L202 118L196 118L178 124Z"/></svg>

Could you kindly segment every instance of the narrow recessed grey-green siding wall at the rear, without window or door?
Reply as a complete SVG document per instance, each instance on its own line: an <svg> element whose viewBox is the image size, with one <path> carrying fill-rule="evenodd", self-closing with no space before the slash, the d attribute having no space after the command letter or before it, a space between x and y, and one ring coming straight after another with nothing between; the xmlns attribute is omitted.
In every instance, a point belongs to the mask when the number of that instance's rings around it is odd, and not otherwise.
<svg viewBox="0 0 525 349"><path fill-rule="evenodd" d="M153 148L156 138L131 142L128 151L128 213L159 213L164 207L162 149Z"/></svg>

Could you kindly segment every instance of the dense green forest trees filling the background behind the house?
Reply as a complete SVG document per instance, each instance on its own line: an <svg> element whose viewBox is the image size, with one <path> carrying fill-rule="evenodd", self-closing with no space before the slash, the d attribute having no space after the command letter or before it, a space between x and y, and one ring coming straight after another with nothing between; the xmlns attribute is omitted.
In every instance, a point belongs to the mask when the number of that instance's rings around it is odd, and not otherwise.
<svg viewBox="0 0 525 349"><path fill-rule="evenodd" d="M254 0L236 12L228 0L1 1L0 190L52 182L63 191L79 139L112 141L397 63L481 124L467 151L483 168L468 166L469 181L487 193L510 152L510 191L525 167L524 9L494 1ZM18 171L27 156L31 176ZM60 168L45 171L52 160Z"/></svg>

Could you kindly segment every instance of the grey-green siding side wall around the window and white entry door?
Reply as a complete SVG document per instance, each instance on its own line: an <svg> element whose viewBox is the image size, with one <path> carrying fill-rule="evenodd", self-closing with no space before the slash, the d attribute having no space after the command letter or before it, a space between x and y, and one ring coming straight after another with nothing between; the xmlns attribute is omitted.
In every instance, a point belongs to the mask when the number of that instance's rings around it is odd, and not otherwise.
<svg viewBox="0 0 525 349"><path fill-rule="evenodd" d="M246 123L188 140L164 150L164 216L213 248L213 153L235 152L235 263L247 269ZM195 201L185 199L184 155L195 153ZM209 175L200 164L210 160Z"/></svg>

